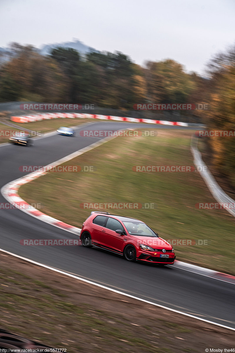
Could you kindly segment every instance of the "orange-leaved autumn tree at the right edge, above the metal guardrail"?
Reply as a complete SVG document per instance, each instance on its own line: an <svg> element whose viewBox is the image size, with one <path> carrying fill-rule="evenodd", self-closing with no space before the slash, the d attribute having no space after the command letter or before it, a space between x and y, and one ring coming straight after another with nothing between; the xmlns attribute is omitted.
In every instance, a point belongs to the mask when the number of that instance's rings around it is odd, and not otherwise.
<svg viewBox="0 0 235 353"><path fill-rule="evenodd" d="M235 46L217 54L208 65L210 74L209 110L210 130L235 131ZM235 187L235 137L210 137L214 166Z"/></svg>

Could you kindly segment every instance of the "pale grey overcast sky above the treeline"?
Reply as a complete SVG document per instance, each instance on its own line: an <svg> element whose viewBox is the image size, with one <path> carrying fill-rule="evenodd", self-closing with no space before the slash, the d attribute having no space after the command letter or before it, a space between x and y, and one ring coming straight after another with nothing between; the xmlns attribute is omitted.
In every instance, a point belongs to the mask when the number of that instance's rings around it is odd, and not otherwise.
<svg viewBox="0 0 235 353"><path fill-rule="evenodd" d="M203 73L235 43L235 0L0 0L0 47L78 38L137 64L174 59Z"/></svg>

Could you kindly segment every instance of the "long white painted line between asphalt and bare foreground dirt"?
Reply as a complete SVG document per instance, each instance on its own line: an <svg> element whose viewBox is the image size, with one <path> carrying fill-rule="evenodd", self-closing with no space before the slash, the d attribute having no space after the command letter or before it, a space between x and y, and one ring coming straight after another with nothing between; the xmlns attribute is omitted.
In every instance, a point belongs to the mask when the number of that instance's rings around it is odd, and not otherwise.
<svg viewBox="0 0 235 353"><path fill-rule="evenodd" d="M146 303L146 304L151 304L151 305L160 307L160 308L162 308L162 309L166 309L166 310L169 310L169 311L173 311L173 312L175 312L175 313L178 313L178 314L181 314L181 315L184 315L184 316L191 317L191 318L193 318L193 319L197 319L197 320L206 322L206 323L208 323L208 324L216 325L216 326L219 326L219 327L222 327L222 328L225 328L225 329L229 329L229 330L235 331L235 329L234 329L233 327L224 326L224 325L218 324L218 323L216 323L216 322L208 321L208 320L202 319L202 318L200 318L200 317L187 314L187 313L182 312L182 311L170 309L170 308L168 308L168 307L166 307L166 306L162 306L162 305L160 305L160 304L156 304L156 303L153 303L153 302L151 302L151 301L148 301L148 300L145 300L145 299L142 299L142 298L134 297L134 295L126 294L126 293L124 293L124 292L117 291L116 289L112 289L112 288L109 288L109 287L100 285L100 284L98 284L98 283L85 280L84 278L81 278L81 277L78 277L78 276L74 276L74 275L69 274L69 273L67 273L67 272L64 272L64 271L55 269L55 268L53 268L53 267L50 267L50 266L41 264L41 263L39 263L39 262L36 262L36 261L30 260L30 259L27 259L27 258L22 257L22 256L19 256L19 255L13 254L13 253L8 252L8 251L6 251L6 250L0 249L0 251L6 253L6 254L8 254L8 255L17 257L17 258L19 258L19 259L21 259L21 260L30 262L30 263L32 263L32 264L34 264L34 265L44 267L44 268L46 268L46 269L48 269L48 270L51 270L51 271L60 273L60 274L62 274L62 275L68 276L68 277L72 277L72 278L74 278L74 279L76 279L76 280L79 280L79 281L82 281L82 282L85 282L85 283L89 283L89 284L91 284L91 285L93 285L93 286L97 286L97 287L100 287L100 288L103 288L103 289L107 289L107 290L110 291L110 292L114 292L114 293L117 293L117 294L120 294L120 295L125 295L125 297L129 297L129 298L132 298L132 299L136 299L136 300L142 301L142 302L144 302L144 303Z"/></svg>

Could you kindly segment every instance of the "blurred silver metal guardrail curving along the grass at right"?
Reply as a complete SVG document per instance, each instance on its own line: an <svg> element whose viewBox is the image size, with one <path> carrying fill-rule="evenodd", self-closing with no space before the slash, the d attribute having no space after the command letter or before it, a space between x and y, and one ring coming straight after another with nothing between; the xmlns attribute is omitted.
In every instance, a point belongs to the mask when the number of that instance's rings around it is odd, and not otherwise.
<svg viewBox="0 0 235 353"><path fill-rule="evenodd" d="M211 174L210 170L206 166L206 164L202 160L202 155L200 154L198 148L197 148L197 143L198 143L198 138L192 136L191 138L191 152L193 155L193 163L194 165L198 168L198 171L205 181L206 185L208 186L211 194L214 196L216 201L221 204L234 204L235 201L228 196L223 189L218 185L216 182L215 178ZM203 167L203 168L202 168ZM235 217L235 208L224 208L226 211L228 211L231 215Z"/></svg>

